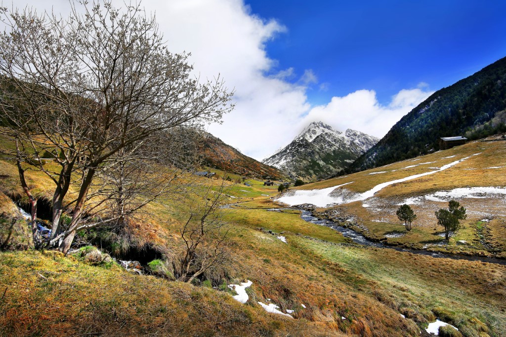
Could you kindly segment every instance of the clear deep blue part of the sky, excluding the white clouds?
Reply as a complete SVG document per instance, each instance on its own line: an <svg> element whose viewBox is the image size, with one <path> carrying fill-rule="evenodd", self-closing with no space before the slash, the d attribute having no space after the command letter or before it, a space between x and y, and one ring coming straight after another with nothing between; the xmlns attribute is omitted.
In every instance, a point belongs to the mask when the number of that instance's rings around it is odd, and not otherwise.
<svg viewBox="0 0 506 337"><path fill-rule="evenodd" d="M318 78L308 90L313 104L359 89L374 89L385 104L403 88L425 82L437 90L506 56L505 1L246 4L286 27L266 44L278 61L270 71L312 69Z"/></svg>

